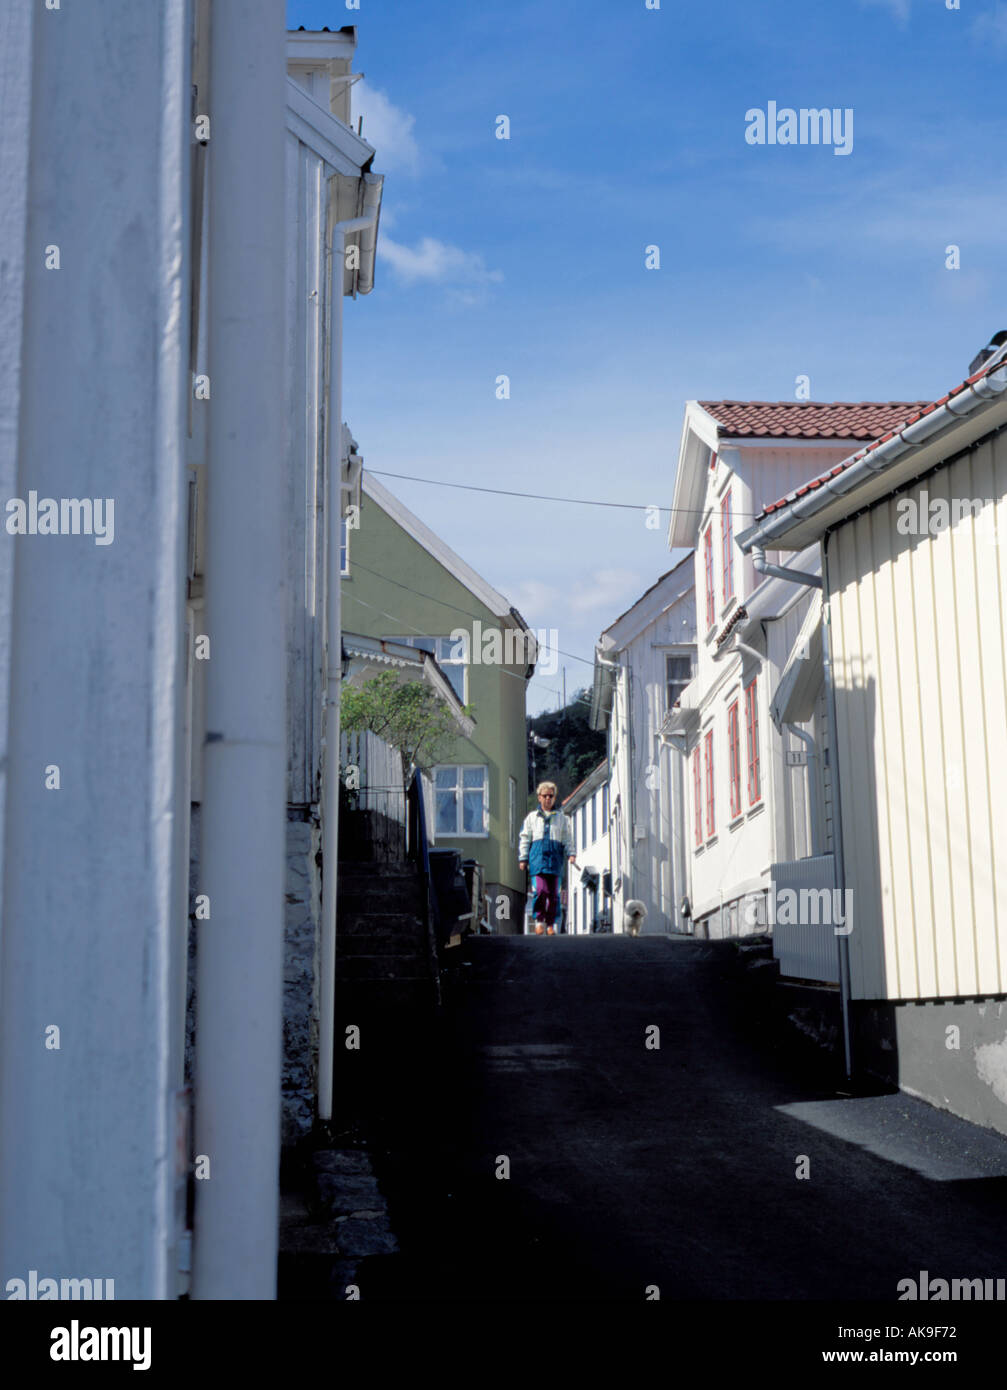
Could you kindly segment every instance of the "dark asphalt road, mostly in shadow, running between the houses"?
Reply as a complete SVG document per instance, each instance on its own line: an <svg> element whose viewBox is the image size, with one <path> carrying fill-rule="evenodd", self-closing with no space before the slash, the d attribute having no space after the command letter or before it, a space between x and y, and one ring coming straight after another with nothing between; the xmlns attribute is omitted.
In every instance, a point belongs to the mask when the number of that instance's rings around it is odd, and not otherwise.
<svg viewBox="0 0 1007 1390"><path fill-rule="evenodd" d="M919 1270L1007 1276L1007 1138L837 1094L730 944L465 949L442 1037L374 1077L401 1254L366 1262L366 1297L892 1302Z"/></svg>

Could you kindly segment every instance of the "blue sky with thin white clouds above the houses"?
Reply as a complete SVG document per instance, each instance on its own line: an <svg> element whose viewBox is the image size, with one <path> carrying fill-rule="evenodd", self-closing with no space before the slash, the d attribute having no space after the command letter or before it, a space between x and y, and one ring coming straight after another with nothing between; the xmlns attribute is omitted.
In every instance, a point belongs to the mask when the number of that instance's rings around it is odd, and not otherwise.
<svg viewBox="0 0 1007 1390"><path fill-rule="evenodd" d="M302 24L357 25L385 174L346 306L370 468L668 507L686 400L794 399L798 374L933 399L1007 327L1007 0L289 0ZM748 145L771 100L853 108L853 152ZM558 631L569 691L680 557L666 513L381 481ZM537 676L529 710L561 688Z"/></svg>

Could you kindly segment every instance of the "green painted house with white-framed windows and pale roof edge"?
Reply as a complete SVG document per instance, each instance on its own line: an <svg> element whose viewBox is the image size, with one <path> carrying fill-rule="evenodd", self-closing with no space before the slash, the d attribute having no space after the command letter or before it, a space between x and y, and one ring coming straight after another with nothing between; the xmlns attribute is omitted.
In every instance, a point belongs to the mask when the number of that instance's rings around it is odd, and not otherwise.
<svg viewBox="0 0 1007 1390"><path fill-rule="evenodd" d="M524 694L535 639L502 594L363 473L348 527L342 626L433 652L476 727L433 770L437 845L477 859L494 930L522 930L517 834L527 801Z"/></svg>

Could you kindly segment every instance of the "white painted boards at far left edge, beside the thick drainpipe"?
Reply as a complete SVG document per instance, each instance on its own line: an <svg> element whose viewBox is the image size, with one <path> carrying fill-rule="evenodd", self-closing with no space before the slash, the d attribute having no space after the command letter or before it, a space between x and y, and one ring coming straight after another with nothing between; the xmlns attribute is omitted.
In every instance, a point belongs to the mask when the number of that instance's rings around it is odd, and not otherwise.
<svg viewBox="0 0 1007 1390"><path fill-rule="evenodd" d="M0 478L115 505L0 535L0 1277L117 1298L175 1293L191 42L188 0L0 13Z"/></svg>

